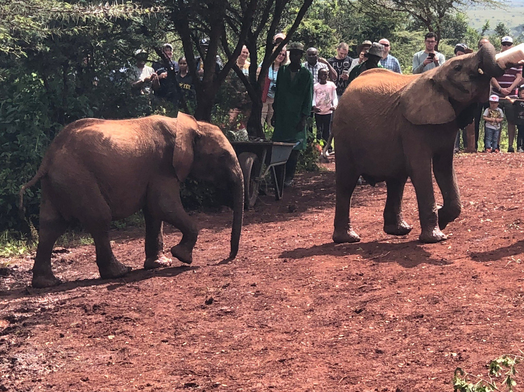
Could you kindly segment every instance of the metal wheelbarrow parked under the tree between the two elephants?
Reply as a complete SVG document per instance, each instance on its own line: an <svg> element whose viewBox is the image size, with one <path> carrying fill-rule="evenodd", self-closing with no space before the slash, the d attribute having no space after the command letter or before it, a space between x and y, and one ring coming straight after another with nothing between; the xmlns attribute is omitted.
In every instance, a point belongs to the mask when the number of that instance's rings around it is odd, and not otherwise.
<svg viewBox="0 0 524 392"><path fill-rule="evenodd" d="M271 172L275 183L275 200L282 199L286 162L297 143L278 141L232 141L244 175L244 205L252 208L258 197L260 181Z"/></svg>

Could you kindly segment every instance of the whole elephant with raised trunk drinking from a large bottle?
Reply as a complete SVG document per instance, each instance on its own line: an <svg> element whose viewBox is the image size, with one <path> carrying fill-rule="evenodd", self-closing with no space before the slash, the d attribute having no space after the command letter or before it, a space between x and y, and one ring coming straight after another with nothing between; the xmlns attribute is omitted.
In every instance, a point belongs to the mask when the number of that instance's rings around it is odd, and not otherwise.
<svg viewBox="0 0 524 392"><path fill-rule="evenodd" d="M489 43L469 55L417 75L385 69L363 72L345 90L333 121L336 206L333 241L360 237L350 219L351 197L362 176L374 185L385 181L384 231L406 235L402 196L408 177L417 196L422 243L446 239L442 230L461 213L453 167L459 128L471 123L477 102L489 96L489 81L511 66L495 57ZM433 171L443 197L435 205Z"/></svg>

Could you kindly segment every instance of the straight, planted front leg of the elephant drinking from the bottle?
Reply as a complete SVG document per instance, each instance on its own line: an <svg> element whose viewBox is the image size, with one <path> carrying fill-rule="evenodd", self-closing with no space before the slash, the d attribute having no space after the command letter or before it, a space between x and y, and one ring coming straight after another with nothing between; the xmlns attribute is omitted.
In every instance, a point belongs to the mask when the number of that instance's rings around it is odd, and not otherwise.
<svg viewBox="0 0 524 392"><path fill-rule="evenodd" d="M451 151L453 152L453 149ZM417 194L419 219L422 229L419 240L423 243L444 241L447 237L438 227L433 178L431 175L431 160L418 159L416 164L411 167L413 169L410 177Z"/></svg>

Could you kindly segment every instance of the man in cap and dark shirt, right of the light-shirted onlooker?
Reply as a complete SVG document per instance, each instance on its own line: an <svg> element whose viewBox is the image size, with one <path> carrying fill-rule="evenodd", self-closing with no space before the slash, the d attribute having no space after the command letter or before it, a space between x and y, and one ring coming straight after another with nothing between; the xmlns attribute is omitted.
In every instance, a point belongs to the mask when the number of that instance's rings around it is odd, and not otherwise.
<svg viewBox="0 0 524 392"><path fill-rule="evenodd" d="M161 48L166 59L159 59L152 63L156 77L153 81L153 94L171 102L178 101L176 80L174 75L178 72L178 62L173 61L173 47L170 43L164 43Z"/></svg>

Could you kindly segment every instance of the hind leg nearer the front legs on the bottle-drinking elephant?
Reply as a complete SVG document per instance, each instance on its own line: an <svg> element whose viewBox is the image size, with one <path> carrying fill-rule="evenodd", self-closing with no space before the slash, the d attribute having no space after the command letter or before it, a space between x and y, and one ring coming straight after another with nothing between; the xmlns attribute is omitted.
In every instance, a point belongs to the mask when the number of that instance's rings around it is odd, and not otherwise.
<svg viewBox="0 0 524 392"><path fill-rule="evenodd" d="M388 195L384 208L384 231L392 235L406 235L411 226L402 217L402 196L407 177L386 181Z"/></svg>

